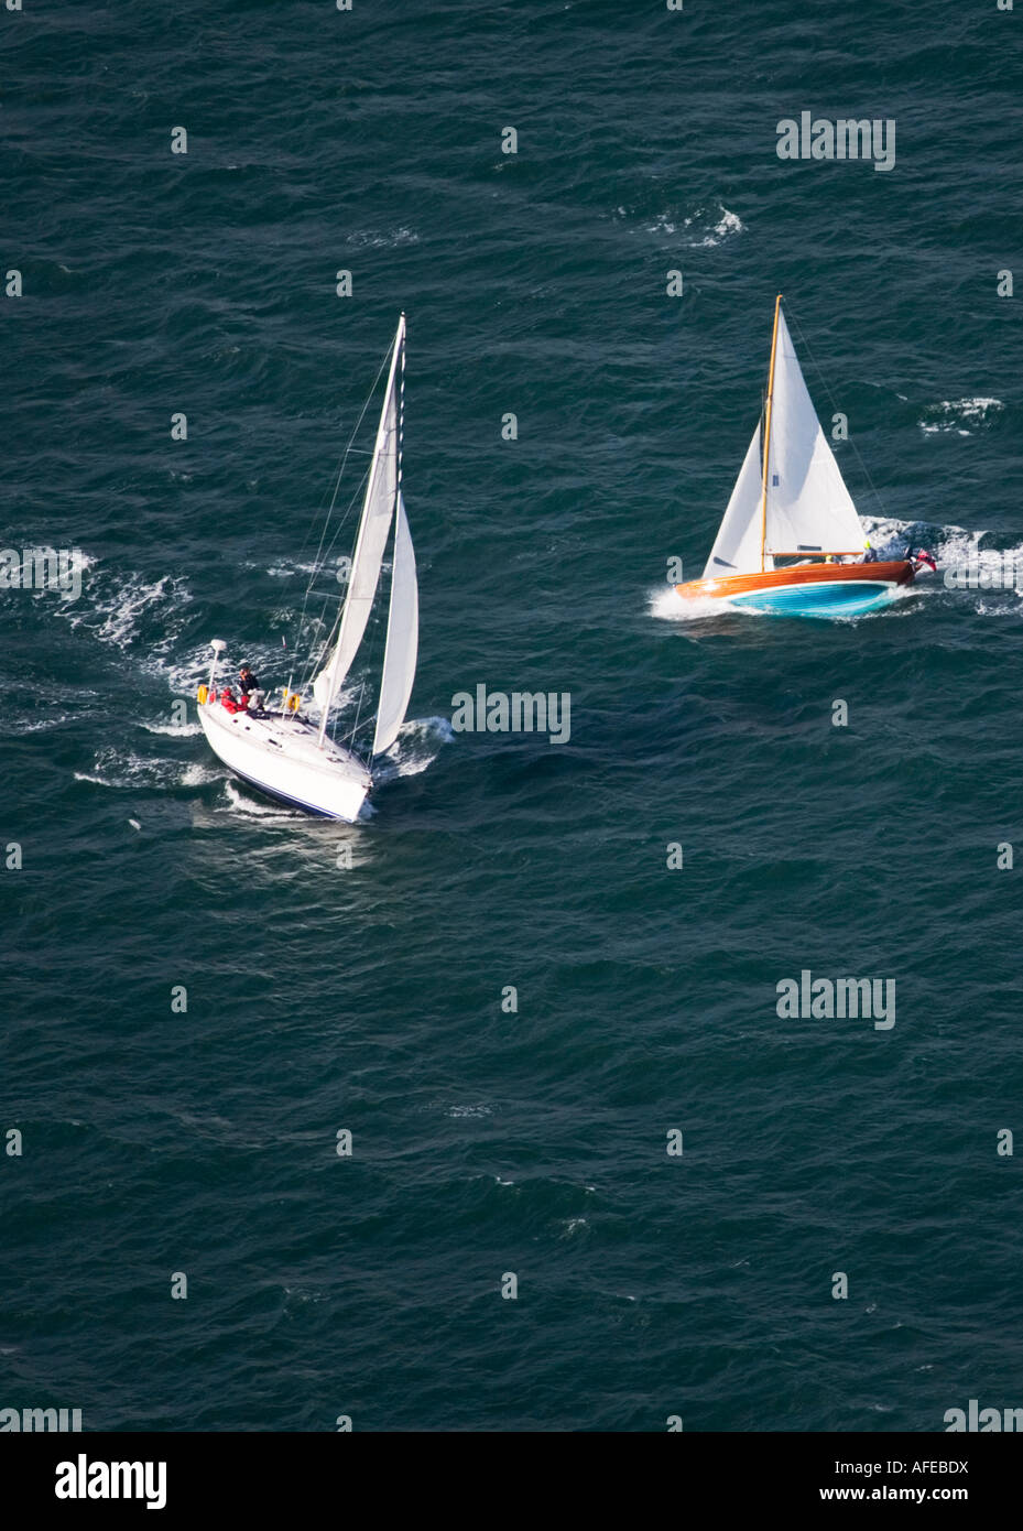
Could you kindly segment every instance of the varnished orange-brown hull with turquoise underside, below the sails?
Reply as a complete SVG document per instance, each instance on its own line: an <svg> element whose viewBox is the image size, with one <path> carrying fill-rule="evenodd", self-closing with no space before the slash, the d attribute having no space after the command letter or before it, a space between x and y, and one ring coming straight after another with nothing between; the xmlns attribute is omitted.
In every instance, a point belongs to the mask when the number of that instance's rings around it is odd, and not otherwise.
<svg viewBox="0 0 1023 1531"><path fill-rule="evenodd" d="M675 585L683 600L723 600L730 606L793 617L858 615L911 585L907 559L887 563L804 563L764 574L729 574Z"/></svg>

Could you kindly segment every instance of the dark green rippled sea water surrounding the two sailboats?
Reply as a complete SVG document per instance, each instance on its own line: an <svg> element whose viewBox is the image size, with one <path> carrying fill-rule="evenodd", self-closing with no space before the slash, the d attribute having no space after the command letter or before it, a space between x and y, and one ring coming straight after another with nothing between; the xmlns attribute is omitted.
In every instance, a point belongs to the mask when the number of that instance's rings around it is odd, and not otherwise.
<svg viewBox="0 0 1023 1531"><path fill-rule="evenodd" d="M709 550L778 291L876 539L1023 547L1020 9L0 12L3 542L92 560L77 602L0 596L0 1407L1023 1405L1020 596L680 622L665 583ZM781 162L801 110L896 119L894 170ZM421 663L345 828L233 785L172 704L214 635L286 678L400 309ZM479 683L570 692L570 743L452 733ZM802 969L894 978L894 1027L780 1020Z"/></svg>

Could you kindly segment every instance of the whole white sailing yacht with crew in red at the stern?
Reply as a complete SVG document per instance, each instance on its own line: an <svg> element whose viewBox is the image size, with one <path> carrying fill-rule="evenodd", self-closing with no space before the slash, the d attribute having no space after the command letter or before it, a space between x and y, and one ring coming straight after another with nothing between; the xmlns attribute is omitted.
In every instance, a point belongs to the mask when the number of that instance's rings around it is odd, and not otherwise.
<svg viewBox="0 0 1023 1531"><path fill-rule="evenodd" d="M271 798L328 819L352 822L374 782L374 761L387 750L404 721L420 632L415 553L401 493L401 438L404 426L404 314L391 352L391 369L380 426L366 481L348 594L326 643L325 661L312 680L317 718L306 717L302 687L283 687L282 706L250 700L237 710L230 687L216 689L216 669L225 648L214 638L208 684L199 687L199 723L224 764ZM331 709L352 668L380 583L391 530L392 574L380 698L368 759L328 738ZM320 544L323 547L323 542ZM312 576L315 579L315 573ZM306 592L308 596L308 592ZM309 672L315 664L309 663Z"/></svg>

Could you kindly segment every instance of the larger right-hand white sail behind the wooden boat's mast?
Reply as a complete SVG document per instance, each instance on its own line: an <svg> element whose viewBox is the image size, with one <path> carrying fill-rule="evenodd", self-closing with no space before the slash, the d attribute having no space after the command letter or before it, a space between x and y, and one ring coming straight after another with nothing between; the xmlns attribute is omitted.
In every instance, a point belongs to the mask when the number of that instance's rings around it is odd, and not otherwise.
<svg viewBox="0 0 1023 1531"><path fill-rule="evenodd" d="M778 314L767 461L767 553L856 553L864 528ZM770 568L770 565L767 565Z"/></svg>

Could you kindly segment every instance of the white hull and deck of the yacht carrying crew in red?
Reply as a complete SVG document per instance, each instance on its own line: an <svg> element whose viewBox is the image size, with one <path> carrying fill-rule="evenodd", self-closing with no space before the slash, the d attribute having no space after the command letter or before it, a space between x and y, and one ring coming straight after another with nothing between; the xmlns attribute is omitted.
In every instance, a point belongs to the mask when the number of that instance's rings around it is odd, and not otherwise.
<svg viewBox="0 0 1023 1531"><path fill-rule="evenodd" d="M331 739L297 717L250 718L227 712L219 701L199 703L199 723L210 749L228 770L271 798L352 824L366 801L372 776Z"/></svg>

